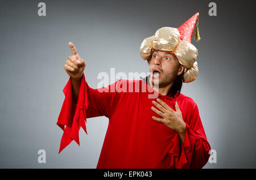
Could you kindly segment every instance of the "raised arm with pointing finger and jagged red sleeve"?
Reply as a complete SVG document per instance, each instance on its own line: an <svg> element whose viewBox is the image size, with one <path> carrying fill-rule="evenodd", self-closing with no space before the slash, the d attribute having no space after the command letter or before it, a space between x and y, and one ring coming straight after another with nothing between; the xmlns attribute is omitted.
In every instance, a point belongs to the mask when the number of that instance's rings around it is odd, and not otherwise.
<svg viewBox="0 0 256 180"><path fill-rule="evenodd" d="M75 140L79 142L80 127L86 131L86 118L105 115L109 117L113 111L117 93L110 92L115 83L107 87L93 89L86 83L84 68L85 62L77 54L75 46L69 42L72 55L68 57L64 68L70 76L68 83L63 89L65 99L60 110L57 125L64 131L60 142L59 153Z"/></svg>

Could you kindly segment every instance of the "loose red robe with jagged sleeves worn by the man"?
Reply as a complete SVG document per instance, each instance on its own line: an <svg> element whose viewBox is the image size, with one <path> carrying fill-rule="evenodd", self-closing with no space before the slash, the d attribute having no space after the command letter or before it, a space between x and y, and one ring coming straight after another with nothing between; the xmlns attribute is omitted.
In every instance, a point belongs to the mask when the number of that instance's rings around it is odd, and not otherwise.
<svg viewBox="0 0 256 180"><path fill-rule="evenodd" d="M136 83L139 91L119 92L131 85L135 90ZM108 89L112 91L106 92ZM124 79L93 89L86 83L84 74L77 104L72 99L71 78L63 92L65 100L57 121L64 130L59 153L72 140L79 144L79 129L82 127L86 132L86 118L105 115L109 125L97 168L203 168L208 161L210 145L199 109L192 98L182 93L175 98L162 96L144 80ZM153 115L159 117L151 110L152 100L156 98L148 98L154 92L174 110L177 101L187 126L184 143L177 132L152 119Z"/></svg>

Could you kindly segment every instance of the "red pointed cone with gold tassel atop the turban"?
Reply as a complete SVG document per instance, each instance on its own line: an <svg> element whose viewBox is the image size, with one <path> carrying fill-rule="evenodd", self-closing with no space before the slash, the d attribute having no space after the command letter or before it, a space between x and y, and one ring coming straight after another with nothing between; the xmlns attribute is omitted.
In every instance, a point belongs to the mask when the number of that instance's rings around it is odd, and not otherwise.
<svg viewBox="0 0 256 180"><path fill-rule="evenodd" d="M197 12L189 20L187 20L184 24L180 25L180 27L177 28L180 32L181 40L186 40L188 42L191 42L191 38L193 35L195 25L196 25L195 40L200 40L198 22L196 24L196 20L197 20L198 16L199 16L199 12Z"/></svg>

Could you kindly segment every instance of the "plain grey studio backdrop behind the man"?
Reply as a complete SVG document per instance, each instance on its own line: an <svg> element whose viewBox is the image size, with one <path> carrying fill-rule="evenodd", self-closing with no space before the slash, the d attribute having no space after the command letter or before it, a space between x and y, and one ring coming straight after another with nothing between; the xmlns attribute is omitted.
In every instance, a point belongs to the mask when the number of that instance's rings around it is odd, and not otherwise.
<svg viewBox="0 0 256 180"><path fill-rule="evenodd" d="M108 119L88 119L80 147L58 155L63 131L56 125L68 81L64 63L72 41L96 88L99 72L148 72L139 55L144 38L161 27L179 27L200 12L199 76L181 93L199 106L217 163L204 168L256 168L255 12L253 1L40 1L0 2L0 168L96 168ZM46 150L46 164L38 150Z"/></svg>

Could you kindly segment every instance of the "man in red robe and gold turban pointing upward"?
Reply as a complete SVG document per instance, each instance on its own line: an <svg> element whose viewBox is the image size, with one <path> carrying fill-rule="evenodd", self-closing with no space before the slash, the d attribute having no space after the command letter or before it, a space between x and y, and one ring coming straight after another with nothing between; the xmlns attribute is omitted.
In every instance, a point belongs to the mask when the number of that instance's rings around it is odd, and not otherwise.
<svg viewBox="0 0 256 180"><path fill-rule="evenodd" d="M97 168L202 168L210 145L196 103L180 93L182 82L192 82L198 74L197 49L189 42L198 15L178 29L163 27L143 40L141 56L150 67L149 84L121 79L90 88L85 61L69 42L72 55L64 68L70 78L57 122L64 130L60 152L72 140L79 144L86 118L105 115L109 126ZM134 90L137 84L139 91L122 91ZM149 98L151 92L158 96Z"/></svg>

